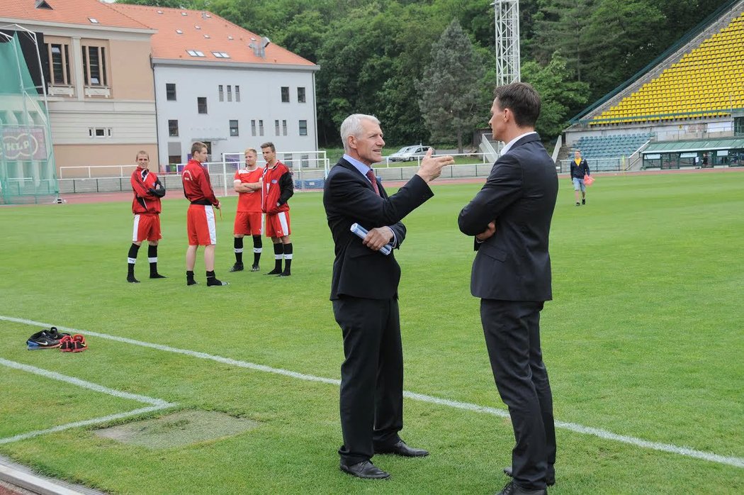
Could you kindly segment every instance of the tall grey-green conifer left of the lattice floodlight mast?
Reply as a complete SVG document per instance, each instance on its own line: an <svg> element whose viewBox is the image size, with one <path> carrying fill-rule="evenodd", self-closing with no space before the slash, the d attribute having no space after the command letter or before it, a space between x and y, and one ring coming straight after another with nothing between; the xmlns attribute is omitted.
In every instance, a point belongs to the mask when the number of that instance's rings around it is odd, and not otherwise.
<svg viewBox="0 0 744 495"><path fill-rule="evenodd" d="M432 44L432 62L416 83L419 107L432 139L450 141L457 137L458 152L463 135L481 120L481 78L484 67L457 19L452 19L440 38Z"/></svg>

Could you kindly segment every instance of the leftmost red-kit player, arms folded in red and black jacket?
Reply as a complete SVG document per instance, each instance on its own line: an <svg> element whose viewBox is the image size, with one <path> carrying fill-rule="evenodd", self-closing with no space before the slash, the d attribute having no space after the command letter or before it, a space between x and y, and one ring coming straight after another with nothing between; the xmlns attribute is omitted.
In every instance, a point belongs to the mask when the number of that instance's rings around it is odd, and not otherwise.
<svg viewBox="0 0 744 495"><path fill-rule="evenodd" d="M165 188L155 172L150 172L150 155L147 151L137 153L137 168L132 172L132 213L135 214L135 227L132 231L132 246L126 258L126 281L139 284L135 278L135 263L142 241L147 239L147 259L150 261L150 278L165 278L158 273L158 242L163 237L160 231L160 198L165 196Z"/></svg>

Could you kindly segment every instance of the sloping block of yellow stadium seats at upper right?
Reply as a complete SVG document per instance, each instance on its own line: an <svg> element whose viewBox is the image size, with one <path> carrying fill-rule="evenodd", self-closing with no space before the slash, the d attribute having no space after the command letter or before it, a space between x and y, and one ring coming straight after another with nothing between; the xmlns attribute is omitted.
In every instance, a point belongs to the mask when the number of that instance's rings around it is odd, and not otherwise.
<svg viewBox="0 0 744 495"><path fill-rule="evenodd" d="M744 14L590 125L721 117L744 107Z"/></svg>

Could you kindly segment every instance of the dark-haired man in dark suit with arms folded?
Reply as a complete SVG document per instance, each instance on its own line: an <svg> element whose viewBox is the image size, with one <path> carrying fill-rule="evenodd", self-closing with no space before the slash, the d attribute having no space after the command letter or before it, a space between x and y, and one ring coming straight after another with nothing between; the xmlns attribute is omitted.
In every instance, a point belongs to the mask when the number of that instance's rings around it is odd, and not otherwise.
<svg viewBox="0 0 744 495"><path fill-rule="evenodd" d="M460 230L475 236L470 292L516 446L513 480L501 494L545 494L555 482L553 396L540 349L540 310L552 298L548 234L558 193L553 160L534 132L540 97L532 86L499 86L489 125L506 146L486 184L463 208Z"/></svg>

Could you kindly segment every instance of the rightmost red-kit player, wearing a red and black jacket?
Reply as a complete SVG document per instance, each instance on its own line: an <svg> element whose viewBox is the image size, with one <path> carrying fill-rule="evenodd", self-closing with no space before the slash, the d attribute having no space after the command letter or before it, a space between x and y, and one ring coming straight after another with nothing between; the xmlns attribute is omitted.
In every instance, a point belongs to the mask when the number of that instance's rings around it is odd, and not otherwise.
<svg viewBox="0 0 744 495"><path fill-rule="evenodd" d="M289 168L277 160L274 143L261 144L266 160L261 188L261 209L266 213L266 237L274 243L275 266L266 275L289 277L292 275L292 240L289 240L289 198L295 194L295 183ZM284 271L281 261L284 259Z"/></svg>

